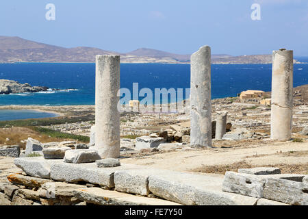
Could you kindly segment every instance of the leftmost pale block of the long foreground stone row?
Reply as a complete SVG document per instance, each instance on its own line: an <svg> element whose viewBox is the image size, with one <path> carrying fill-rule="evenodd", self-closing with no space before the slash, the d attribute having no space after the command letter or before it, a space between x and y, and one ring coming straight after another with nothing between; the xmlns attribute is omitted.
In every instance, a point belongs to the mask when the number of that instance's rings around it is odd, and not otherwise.
<svg viewBox="0 0 308 219"><path fill-rule="evenodd" d="M50 179L50 166L54 162L63 162L62 159L44 159L44 157L19 157L14 164L31 177Z"/></svg>

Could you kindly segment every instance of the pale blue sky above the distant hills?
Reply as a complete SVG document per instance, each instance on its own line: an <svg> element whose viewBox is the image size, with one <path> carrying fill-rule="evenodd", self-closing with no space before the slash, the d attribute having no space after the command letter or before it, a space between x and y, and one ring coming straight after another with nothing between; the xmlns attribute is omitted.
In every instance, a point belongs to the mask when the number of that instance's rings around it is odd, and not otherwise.
<svg viewBox="0 0 308 219"><path fill-rule="evenodd" d="M55 21L47 21L47 3ZM251 5L261 6L261 21ZM190 54L308 55L308 0L10 0L0 2L0 35L62 47L129 52L146 47Z"/></svg>

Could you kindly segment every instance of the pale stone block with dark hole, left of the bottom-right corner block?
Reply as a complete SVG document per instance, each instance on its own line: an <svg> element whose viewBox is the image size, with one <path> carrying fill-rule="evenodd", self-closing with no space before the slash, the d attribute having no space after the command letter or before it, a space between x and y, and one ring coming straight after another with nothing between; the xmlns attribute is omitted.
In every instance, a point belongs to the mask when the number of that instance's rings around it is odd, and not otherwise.
<svg viewBox="0 0 308 219"><path fill-rule="evenodd" d="M222 191L256 198L263 197L266 179L246 173L226 172Z"/></svg>

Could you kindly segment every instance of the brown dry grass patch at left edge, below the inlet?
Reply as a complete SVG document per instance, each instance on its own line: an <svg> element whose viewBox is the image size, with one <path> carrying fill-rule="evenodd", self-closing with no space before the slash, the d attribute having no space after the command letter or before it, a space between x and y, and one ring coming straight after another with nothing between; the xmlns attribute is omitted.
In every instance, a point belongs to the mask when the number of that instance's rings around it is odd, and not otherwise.
<svg viewBox="0 0 308 219"><path fill-rule="evenodd" d="M46 142L58 142L57 138L50 138L47 135L42 135L34 130L27 129L24 127L13 127L13 128L3 128L0 129L0 146L1 145L19 145L25 149L25 142L22 140L27 140L27 138L34 138L42 143Z"/></svg>

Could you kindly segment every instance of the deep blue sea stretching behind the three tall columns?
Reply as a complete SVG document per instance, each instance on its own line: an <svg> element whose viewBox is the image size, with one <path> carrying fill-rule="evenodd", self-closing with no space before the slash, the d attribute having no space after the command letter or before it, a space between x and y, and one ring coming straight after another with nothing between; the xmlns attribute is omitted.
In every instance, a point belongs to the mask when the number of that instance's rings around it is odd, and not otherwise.
<svg viewBox="0 0 308 219"><path fill-rule="evenodd" d="M297 57L308 62L308 57ZM57 91L0 95L0 105L94 105L95 64L0 64L0 79ZM212 99L236 96L243 90L271 90L272 64L213 64ZM190 64L121 64L121 88L190 88ZM308 64L294 64L294 87L308 83ZM140 97L140 100L143 99ZM184 96L185 99L185 96Z"/></svg>

